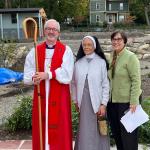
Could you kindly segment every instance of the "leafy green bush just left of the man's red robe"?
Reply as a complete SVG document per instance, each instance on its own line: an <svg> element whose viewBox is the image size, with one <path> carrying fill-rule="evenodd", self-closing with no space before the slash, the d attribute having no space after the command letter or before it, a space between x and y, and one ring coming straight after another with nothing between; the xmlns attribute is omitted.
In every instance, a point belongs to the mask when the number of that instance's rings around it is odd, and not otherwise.
<svg viewBox="0 0 150 150"><path fill-rule="evenodd" d="M15 108L14 113L7 119L6 128L9 131L17 131L21 129L31 129L31 97L20 97L21 104Z"/></svg>

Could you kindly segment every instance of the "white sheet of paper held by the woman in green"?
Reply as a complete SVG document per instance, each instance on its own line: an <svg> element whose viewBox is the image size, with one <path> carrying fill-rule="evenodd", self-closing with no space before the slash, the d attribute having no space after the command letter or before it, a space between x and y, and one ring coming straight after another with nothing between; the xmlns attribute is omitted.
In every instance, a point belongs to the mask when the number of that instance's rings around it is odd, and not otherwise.
<svg viewBox="0 0 150 150"><path fill-rule="evenodd" d="M134 131L138 126L142 125L143 123L149 120L149 116L146 112L142 109L141 105L138 105L136 111L131 113L128 111L122 118L121 123L126 128L127 132Z"/></svg>

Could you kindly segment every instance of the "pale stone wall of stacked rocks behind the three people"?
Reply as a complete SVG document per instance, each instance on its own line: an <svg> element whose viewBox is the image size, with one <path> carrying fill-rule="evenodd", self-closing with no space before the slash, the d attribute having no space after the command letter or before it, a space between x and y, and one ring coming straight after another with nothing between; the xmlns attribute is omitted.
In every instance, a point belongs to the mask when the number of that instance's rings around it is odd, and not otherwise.
<svg viewBox="0 0 150 150"><path fill-rule="evenodd" d="M149 69L150 66L150 35L144 36L144 33L131 32L128 34L128 43L127 47L129 50L134 52L141 61L141 68L143 70ZM94 35L98 37L102 49L106 55L112 51L111 41L110 41L110 32L73 32L73 33L62 33L61 39L62 42L69 45L73 50L73 53L76 54L81 43L81 39L85 35ZM9 63L9 68L14 70L23 71L23 65L25 57L33 43L18 43L15 53L17 53L14 60L11 60ZM16 52L17 51L17 52ZM144 63L143 63L144 62ZM150 71L149 71L150 72Z"/></svg>

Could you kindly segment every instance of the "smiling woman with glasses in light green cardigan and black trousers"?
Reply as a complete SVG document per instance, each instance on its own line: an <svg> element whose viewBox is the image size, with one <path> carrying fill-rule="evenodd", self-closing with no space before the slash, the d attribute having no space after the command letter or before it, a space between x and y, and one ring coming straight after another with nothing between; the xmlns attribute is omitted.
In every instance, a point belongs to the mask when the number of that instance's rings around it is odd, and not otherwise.
<svg viewBox="0 0 150 150"><path fill-rule="evenodd" d="M113 52L110 57L109 79L111 98L107 105L108 119L117 150L138 150L137 129L128 133L120 119L126 111L135 112L141 94L140 63L125 46L127 37L122 31L111 35Z"/></svg>

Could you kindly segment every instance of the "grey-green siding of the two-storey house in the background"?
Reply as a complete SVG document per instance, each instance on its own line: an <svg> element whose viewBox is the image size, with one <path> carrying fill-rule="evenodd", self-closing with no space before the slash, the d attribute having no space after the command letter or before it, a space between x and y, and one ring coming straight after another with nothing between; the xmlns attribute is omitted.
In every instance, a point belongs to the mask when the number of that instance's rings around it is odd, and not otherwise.
<svg viewBox="0 0 150 150"><path fill-rule="evenodd" d="M123 8L120 9L120 3L123 4ZM96 8L96 4L99 7ZM111 10L109 10L109 4L111 4ZM128 0L91 0L90 1L90 23L97 24L96 16L99 16L99 23L107 21L108 23L115 23L124 21L129 15Z"/></svg>

